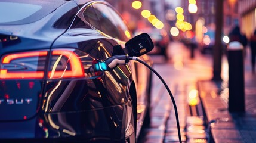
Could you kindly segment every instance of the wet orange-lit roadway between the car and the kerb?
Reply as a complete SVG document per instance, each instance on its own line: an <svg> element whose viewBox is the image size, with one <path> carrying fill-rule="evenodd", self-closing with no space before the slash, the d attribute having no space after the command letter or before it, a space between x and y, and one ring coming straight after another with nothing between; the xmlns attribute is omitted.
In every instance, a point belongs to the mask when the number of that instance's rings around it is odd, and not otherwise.
<svg viewBox="0 0 256 143"><path fill-rule="evenodd" d="M195 129L191 130L193 133L190 135L190 139L204 139L203 141L206 142L206 134L203 131L203 114L192 115L187 110L189 105L186 98L191 90L196 89L196 80L211 79L212 55L202 55L196 50L195 58L191 59L190 50L183 43L174 42L168 46L168 56L170 57L168 61L158 55L152 55L152 59L154 69L161 74L174 95L178 108L182 141L187 140L185 136L187 129L185 128L189 127L187 126L189 122L196 122L192 126L197 129L198 133L195 133ZM139 142L178 142L171 98L158 77L153 77L152 122L150 127L144 128L143 133L141 133L143 137L140 138ZM187 121L188 118L190 118L189 121Z"/></svg>

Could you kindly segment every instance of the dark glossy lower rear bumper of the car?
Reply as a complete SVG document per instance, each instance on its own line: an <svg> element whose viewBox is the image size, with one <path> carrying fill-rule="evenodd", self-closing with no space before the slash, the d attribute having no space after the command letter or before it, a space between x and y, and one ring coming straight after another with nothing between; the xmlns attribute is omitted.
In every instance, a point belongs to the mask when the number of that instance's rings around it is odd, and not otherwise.
<svg viewBox="0 0 256 143"><path fill-rule="evenodd" d="M124 105L0 122L0 142L120 142Z"/></svg>

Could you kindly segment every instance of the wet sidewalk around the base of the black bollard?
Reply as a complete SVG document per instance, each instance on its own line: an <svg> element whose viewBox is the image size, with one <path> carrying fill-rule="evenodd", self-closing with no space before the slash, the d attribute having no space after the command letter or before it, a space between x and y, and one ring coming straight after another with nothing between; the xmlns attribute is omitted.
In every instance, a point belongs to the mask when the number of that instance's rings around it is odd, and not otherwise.
<svg viewBox="0 0 256 143"><path fill-rule="evenodd" d="M199 80L198 91L205 111L211 142L256 142L256 74L245 58L245 113L228 111L228 81Z"/></svg>

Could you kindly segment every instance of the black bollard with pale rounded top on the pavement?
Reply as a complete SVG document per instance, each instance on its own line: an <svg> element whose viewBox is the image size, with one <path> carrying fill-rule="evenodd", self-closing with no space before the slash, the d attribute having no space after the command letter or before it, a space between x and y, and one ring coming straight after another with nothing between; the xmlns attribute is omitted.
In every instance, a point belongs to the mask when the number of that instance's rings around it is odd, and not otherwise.
<svg viewBox="0 0 256 143"><path fill-rule="evenodd" d="M243 45L237 41L227 46L229 62L229 111L245 111L245 77L243 69Z"/></svg>

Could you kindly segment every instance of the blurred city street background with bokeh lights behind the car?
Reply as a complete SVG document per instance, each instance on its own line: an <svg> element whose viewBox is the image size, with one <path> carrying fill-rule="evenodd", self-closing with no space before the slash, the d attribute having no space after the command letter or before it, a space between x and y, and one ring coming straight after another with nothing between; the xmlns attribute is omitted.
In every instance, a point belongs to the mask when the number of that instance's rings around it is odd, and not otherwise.
<svg viewBox="0 0 256 143"><path fill-rule="evenodd" d="M174 95L182 142L256 142L255 0L108 2L134 35L146 32L152 38L149 55ZM234 41L242 56L229 61ZM233 65L238 69L229 72ZM229 77L233 73L239 76ZM244 101L233 110L229 85L236 83L244 94L232 92ZM138 142L178 142L171 98L158 77L152 84L151 123Z"/></svg>

